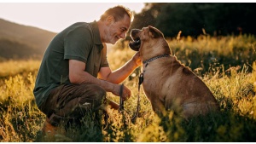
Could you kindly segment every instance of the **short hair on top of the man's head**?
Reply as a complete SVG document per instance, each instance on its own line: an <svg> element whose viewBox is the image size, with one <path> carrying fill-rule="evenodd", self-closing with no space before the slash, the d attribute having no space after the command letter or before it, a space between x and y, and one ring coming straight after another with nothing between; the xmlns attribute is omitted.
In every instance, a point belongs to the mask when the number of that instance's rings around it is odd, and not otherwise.
<svg viewBox="0 0 256 144"><path fill-rule="evenodd" d="M112 15L114 20L118 21L124 19L125 14L130 17L131 21L133 20L133 13L131 10L122 5L118 5L106 10L105 13L101 15L100 20L106 20L109 15Z"/></svg>

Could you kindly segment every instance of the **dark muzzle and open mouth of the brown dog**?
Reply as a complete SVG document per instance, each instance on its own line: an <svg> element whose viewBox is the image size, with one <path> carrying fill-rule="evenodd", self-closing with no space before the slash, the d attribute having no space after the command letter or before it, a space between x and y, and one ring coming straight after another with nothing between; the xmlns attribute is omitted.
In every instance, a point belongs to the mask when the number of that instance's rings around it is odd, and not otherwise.
<svg viewBox="0 0 256 144"><path fill-rule="evenodd" d="M139 30L132 30L131 31L131 42L129 43L129 47L132 50L135 51L139 51L140 47L141 47L141 39L140 37L138 37L138 32L140 32Z"/></svg>

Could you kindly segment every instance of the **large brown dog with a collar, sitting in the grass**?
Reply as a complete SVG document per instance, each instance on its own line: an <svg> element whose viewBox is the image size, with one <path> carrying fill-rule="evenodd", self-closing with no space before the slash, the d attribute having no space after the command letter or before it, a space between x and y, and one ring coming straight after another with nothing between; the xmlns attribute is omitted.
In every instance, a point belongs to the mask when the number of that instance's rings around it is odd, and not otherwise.
<svg viewBox="0 0 256 144"><path fill-rule="evenodd" d="M168 110L184 118L218 110L212 92L188 67L171 54L162 32L153 26L131 31L131 49L143 61L143 91L154 112L166 116Z"/></svg>

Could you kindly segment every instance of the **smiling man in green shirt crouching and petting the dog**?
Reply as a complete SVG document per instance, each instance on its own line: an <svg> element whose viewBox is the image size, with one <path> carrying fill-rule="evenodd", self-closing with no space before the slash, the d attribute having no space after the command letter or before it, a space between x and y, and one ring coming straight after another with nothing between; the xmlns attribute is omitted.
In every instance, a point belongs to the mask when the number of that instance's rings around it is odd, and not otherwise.
<svg viewBox="0 0 256 144"><path fill-rule="evenodd" d="M96 111L109 104L106 92L120 96L120 85L137 66L139 54L112 72L105 43L116 43L131 26L133 14L123 6L108 9L100 20L78 22L57 34L49 43L38 71L33 93L38 108L46 114L44 132L54 133L61 119L82 118L85 110ZM131 96L124 86L122 98Z"/></svg>

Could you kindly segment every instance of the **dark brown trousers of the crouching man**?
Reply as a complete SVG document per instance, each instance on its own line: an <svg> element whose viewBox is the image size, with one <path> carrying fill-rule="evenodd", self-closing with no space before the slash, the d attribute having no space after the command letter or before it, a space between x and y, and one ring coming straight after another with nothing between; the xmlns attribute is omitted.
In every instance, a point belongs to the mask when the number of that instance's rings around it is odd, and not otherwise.
<svg viewBox="0 0 256 144"><path fill-rule="evenodd" d="M61 120L83 118L106 101L106 91L96 84L63 84L53 89L39 109L57 125Z"/></svg>

